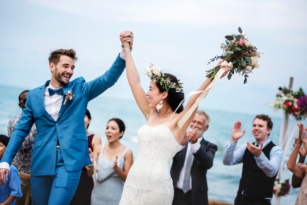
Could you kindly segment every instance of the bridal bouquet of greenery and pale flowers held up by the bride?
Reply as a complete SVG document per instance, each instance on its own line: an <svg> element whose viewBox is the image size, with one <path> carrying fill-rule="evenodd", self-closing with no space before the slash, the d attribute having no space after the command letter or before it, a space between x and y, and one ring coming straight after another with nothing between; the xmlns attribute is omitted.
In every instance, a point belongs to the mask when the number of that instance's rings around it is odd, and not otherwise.
<svg viewBox="0 0 307 205"><path fill-rule="evenodd" d="M234 72L239 73L242 76L244 75L245 84L248 74L253 73L253 69L259 67L258 57L260 57L260 53L257 52L257 48L245 37L246 33L242 32L240 27L238 31L240 32L239 35L231 34L225 36L226 43L222 43L221 45L224 53L211 58L208 64L218 59L224 59L222 65L228 65L231 68L228 79L231 78ZM220 67L216 66L206 71L206 77L212 80L219 69Z"/></svg>

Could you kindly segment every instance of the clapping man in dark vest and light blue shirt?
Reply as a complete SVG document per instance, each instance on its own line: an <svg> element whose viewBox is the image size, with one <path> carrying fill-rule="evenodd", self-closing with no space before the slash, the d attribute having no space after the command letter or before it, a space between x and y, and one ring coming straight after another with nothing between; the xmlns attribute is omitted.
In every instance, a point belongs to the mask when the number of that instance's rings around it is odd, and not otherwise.
<svg viewBox="0 0 307 205"><path fill-rule="evenodd" d="M238 139L246 131L241 132L241 122L234 124L223 156L225 165L243 162L234 205L271 205L274 181L282 160L282 149L269 139L272 128L273 122L269 116L257 115L252 128L256 142L247 142L234 151Z"/></svg>

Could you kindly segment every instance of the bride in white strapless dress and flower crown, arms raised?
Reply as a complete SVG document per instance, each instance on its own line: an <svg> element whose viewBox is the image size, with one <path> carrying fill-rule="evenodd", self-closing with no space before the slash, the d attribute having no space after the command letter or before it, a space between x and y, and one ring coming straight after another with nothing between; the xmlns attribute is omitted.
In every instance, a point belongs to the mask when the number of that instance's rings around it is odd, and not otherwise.
<svg viewBox="0 0 307 205"><path fill-rule="evenodd" d="M183 108L180 102L184 100L184 94L179 80L173 75L164 74L154 65L146 69L151 82L149 91L145 93L130 52L128 37L131 36L132 32L125 31L120 34L120 40L126 53L128 82L147 124L138 130L139 151L128 172L120 205L171 205L174 188L170 162L197 109L188 116L181 128L178 123L201 93L193 95ZM226 71L222 75L224 77L230 68L221 68ZM207 78L198 91L205 90L210 82Z"/></svg>

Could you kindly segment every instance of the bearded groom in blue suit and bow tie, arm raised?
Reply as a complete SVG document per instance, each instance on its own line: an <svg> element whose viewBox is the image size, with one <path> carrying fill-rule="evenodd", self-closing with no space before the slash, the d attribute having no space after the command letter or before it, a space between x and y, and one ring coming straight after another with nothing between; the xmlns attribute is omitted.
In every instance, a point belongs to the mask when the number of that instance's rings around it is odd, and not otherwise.
<svg viewBox="0 0 307 205"><path fill-rule="evenodd" d="M125 32L130 48L133 34ZM81 169L91 164L84 115L87 103L114 85L125 69L125 53L117 56L108 71L85 82L69 81L74 74L76 51L55 50L49 57L51 80L28 92L26 107L0 161L0 184L8 179L9 165L35 123L31 161L33 205L69 205Z"/></svg>

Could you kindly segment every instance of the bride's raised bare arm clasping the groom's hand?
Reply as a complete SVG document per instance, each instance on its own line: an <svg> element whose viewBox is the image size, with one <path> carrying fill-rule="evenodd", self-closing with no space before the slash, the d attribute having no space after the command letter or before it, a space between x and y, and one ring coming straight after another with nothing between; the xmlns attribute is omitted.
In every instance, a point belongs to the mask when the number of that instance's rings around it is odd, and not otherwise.
<svg viewBox="0 0 307 205"><path fill-rule="evenodd" d="M134 99L139 106L140 110L142 111L143 115L146 119L148 119L150 109L148 106L148 98L144 89L141 86L140 76L135 67L131 52L130 52L130 45L128 41L125 41L128 36L131 36L132 33L130 31L125 31L120 34L120 40L123 44L126 56L126 73L129 85L132 90L132 94Z"/></svg>

